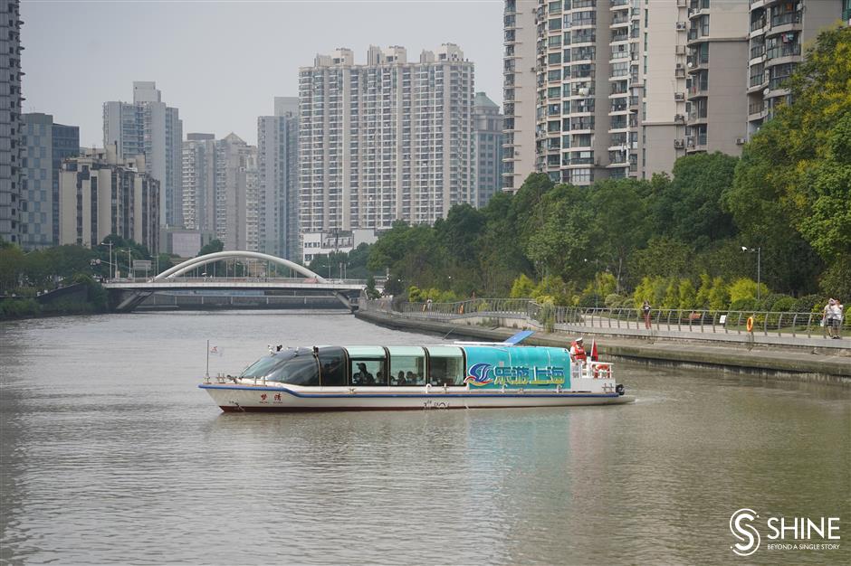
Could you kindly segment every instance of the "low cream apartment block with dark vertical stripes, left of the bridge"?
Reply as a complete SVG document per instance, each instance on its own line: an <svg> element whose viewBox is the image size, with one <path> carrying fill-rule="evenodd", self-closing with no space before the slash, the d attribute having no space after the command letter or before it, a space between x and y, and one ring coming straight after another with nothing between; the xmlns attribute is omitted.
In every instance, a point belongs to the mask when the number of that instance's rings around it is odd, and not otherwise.
<svg viewBox="0 0 851 566"><path fill-rule="evenodd" d="M113 147L66 159L59 175L59 243L96 246L110 234L159 252L159 182L145 157Z"/></svg>

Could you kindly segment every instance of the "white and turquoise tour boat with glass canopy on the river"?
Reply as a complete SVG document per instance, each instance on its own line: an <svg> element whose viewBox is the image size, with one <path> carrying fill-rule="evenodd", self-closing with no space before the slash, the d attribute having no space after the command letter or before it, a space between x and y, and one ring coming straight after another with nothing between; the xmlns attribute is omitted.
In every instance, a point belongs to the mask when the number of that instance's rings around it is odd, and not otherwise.
<svg viewBox="0 0 851 566"><path fill-rule="evenodd" d="M611 363L566 348L502 343L270 348L237 376L207 376L224 411L484 409L635 401Z"/></svg>

